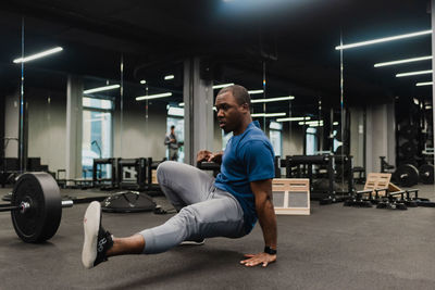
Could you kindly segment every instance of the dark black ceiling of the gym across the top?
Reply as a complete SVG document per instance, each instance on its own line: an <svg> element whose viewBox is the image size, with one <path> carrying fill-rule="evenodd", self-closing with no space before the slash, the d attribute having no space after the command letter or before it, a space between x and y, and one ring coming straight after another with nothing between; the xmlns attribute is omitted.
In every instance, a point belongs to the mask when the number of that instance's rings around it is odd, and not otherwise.
<svg viewBox="0 0 435 290"><path fill-rule="evenodd" d="M0 77L15 84L25 16L25 51L62 45L64 52L27 65L35 81L59 73L120 79L147 78L153 87L182 92L183 61L201 56L215 83L234 81L268 93L297 96L296 105L315 104L319 97L337 104L344 43L431 29L426 0L14 0L0 4ZM396 73L431 70L431 62L374 68L376 62L431 55L431 37L391 41L344 51L345 100L350 104L401 98L430 98L415 87L431 76L398 79ZM53 62L53 60L57 60ZM41 74L45 72L45 74ZM173 84L162 76L174 73ZM11 79L12 75L13 80ZM47 77L47 75L49 77ZM39 77L39 78L38 78Z"/></svg>

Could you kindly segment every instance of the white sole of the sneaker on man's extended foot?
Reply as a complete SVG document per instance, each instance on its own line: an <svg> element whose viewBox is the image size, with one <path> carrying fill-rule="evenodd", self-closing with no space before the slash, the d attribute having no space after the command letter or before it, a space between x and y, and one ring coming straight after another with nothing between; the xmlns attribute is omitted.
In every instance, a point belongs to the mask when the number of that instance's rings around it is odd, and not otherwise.
<svg viewBox="0 0 435 290"><path fill-rule="evenodd" d="M87 269L94 267L94 262L97 259L97 241L98 229L100 228L100 217L101 205L98 201L92 201L86 210L85 217L83 219L85 237L82 250L82 263Z"/></svg>

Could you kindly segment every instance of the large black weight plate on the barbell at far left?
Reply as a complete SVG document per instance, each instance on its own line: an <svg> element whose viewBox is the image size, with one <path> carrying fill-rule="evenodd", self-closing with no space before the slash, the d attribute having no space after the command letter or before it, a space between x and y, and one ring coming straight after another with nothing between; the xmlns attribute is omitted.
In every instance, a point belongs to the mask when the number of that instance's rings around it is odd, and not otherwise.
<svg viewBox="0 0 435 290"><path fill-rule="evenodd" d="M62 199L54 178L47 173L20 176L11 203L22 202L28 202L30 209L11 212L16 235L25 242L44 242L53 237L62 217Z"/></svg>

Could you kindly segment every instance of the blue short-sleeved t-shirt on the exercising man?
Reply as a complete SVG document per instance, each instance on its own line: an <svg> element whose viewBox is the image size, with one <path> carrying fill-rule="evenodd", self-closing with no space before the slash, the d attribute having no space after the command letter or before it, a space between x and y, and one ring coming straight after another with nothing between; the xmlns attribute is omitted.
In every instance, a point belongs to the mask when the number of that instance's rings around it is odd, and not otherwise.
<svg viewBox="0 0 435 290"><path fill-rule="evenodd" d="M221 173L215 187L232 193L244 210L245 230L250 232L257 223L254 196L251 181L275 176L274 152L271 142L254 121L247 129L233 136L222 156Z"/></svg>

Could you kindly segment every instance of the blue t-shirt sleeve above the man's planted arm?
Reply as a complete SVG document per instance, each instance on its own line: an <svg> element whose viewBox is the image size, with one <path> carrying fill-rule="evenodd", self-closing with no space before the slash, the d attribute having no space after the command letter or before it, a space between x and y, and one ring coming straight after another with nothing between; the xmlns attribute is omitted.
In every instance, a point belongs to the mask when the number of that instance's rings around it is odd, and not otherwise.
<svg viewBox="0 0 435 290"><path fill-rule="evenodd" d="M245 144L244 161L249 182L275 176L273 150L262 140L251 140Z"/></svg>

